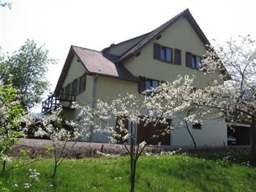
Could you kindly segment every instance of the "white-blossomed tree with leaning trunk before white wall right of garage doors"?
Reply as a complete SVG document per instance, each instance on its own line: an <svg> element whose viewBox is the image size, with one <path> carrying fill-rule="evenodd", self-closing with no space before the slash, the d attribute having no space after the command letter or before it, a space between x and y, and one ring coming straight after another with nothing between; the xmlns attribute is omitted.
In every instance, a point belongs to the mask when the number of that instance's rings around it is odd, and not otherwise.
<svg viewBox="0 0 256 192"><path fill-rule="evenodd" d="M175 81L163 83L150 90L150 97L145 98L152 117L172 118L173 129L185 127L193 141L194 149L196 149L196 141L188 123L201 124L212 113L212 110L198 105L200 100L204 100L204 94L202 94L203 89L195 87L195 78L195 76L177 76Z"/></svg>

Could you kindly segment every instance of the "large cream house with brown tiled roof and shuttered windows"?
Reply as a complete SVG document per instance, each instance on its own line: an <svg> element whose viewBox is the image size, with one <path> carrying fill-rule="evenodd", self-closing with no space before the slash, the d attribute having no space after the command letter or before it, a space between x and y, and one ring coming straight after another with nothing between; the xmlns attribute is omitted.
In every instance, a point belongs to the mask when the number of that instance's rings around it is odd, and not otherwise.
<svg viewBox="0 0 256 192"><path fill-rule="evenodd" d="M46 113L58 102L63 106L72 100L82 104L90 97L111 102L118 93L141 93L162 81L173 81L178 74L195 74L195 86L205 86L210 79L198 70L198 63L205 54L206 44L210 43L187 9L146 34L111 44L102 51L72 45L54 92L56 103L49 98L42 111ZM74 118L76 113L67 106L64 116ZM224 119L209 120L202 125L190 124L189 129L198 146L227 143ZM144 133L138 127L138 138ZM93 134L90 141L108 142L108 139ZM184 127L159 141L170 146L193 145Z"/></svg>

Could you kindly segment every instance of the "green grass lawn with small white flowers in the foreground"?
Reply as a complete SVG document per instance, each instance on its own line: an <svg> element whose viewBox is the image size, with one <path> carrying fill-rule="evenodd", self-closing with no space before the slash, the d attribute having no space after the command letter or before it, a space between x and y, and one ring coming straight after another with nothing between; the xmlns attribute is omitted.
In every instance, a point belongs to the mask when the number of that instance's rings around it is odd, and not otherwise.
<svg viewBox="0 0 256 192"><path fill-rule="evenodd" d="M10 191L13 184L18 185L16 191L129 191L128 157L63 161L54 187L52 163L44 159L0 175L0 180ZM136 191L256 191L252 166L177 155L142 156L137 167ZM29 168L40 173L40 181L24 189Z"/></svg>

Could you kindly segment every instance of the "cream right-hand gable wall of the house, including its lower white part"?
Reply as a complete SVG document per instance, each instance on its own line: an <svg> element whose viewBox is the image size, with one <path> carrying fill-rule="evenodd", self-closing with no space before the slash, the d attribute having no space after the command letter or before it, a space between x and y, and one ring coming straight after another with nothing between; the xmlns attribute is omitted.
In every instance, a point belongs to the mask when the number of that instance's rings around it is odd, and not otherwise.
<svg viewBox="0 0 256 192"><path fill-rule="evenodd" d="M173 50L181 50L181 65L166 63L154 59L154 43L170 47ZM186 67L186 51L203 56L205 54L205 46L196 35L188 20L182 18L175 22L170 28L166 29L159 40L153 40L140 51L140 56L132 56L124 61L123 65L134 75L143 76L159 81L173 81L180 75L195 75L195 86L204 87L212 83L212 77L209 77L198 70ZM173 51L174 52L174 51ZM223 81L218 77L214 77L219 83ZM227 128L225 120L205 121L202 129L189 129L195 137L198 146L210 145L221 146L223 142L227 143ZM170 136L170 143L173 146L191 146L191 140L188 131L184 126L173 130Z"/></svg>

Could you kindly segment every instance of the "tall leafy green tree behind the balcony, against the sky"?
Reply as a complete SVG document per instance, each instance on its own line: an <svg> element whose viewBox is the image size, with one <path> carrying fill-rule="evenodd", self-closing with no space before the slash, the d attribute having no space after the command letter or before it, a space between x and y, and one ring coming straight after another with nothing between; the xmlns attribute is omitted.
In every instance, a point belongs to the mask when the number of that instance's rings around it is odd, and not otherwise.
<svg viewBox="0 0 256 192"><path fill-rule="evenodd" d="M55 63L49 58L49 51L44 45L27 40L19 50L1 60L0 77L7 81L11 78L13 87L19 90L20 104L28 110L42 100L42 95L49 87L46 80L47 65Z"/></svg>

